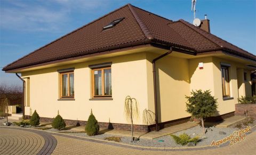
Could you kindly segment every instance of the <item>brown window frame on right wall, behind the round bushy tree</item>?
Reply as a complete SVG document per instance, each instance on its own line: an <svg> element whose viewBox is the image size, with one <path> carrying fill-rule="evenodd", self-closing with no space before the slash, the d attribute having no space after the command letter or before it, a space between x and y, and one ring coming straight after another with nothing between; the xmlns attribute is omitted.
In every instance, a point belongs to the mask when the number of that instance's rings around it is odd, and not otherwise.
<svg viewBox="0 0 256 155"><path fill-rule="evenodd" d="M221 66L221 84L222 84L222 96L223 97L230 97L230 79L229 79L229 67ZM226 88L226 80L225 80L225 71L227 72L227 81L228 81L228 88ZM226 89L228 89L228 93L226 94Z"/></svg>

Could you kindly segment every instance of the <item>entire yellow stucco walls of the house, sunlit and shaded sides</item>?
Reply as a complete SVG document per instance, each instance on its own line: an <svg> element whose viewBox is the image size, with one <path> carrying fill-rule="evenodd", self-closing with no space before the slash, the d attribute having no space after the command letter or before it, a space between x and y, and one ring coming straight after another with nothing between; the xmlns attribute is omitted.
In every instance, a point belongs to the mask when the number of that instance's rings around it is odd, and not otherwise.
<svg viewBox="0 0 256 155"><path fill-rule="evenodd" d="M59 110L64 119L87 120L92 109L100 122L110 120L111 123L126 124L124 100L127 95L131 95L139 103L140 119L135 121L135 124L143 124L143 110L155 112L151 62L157 56L159 53L156 54L156 52L142 52L23 72L22 77L27 80L29 78L26 92L30 94L29 97L27 96L27 106L30 104L30 107L25 108L25 114L31 115L31 111L37 110L39 116L53 118ZM112 62L113 100L91 101L89 99L91 99L92 79L91 69L88 66L103 62ZM203 69L199 69L199 62L203 62ZM231 66L229 69L230 94L234 99L225 101L222 99L220 62ZM57 70L71 67L75 68L75 101L58 101L59 73ZM213 56L187 59L170 54L158 60L156 62L158 122L190 116L186 112L185 95L190 95L190 91L196 89L203 91L210 89L212 95L218 98L219 108L215 115L235 111L238 92L249 95L251 93L250 75L248 75L249 81L245 83L241 81L242 87L240 87L239 71L244 72L242 64Z"/></svg>

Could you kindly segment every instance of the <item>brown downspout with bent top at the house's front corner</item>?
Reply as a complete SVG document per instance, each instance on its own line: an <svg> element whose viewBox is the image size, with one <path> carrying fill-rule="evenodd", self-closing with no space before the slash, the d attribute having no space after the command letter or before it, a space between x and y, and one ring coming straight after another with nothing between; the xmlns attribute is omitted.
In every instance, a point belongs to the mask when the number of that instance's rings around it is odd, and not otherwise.
<svg viewBox="0 0 256 155"><path fill-rule="evenodd" d="M156 132L158 132L158 115L157 115L157 95L156 95L156 61L163 58L164 56L172 53L172 47L170 51L158 56L152 61L153 64L153 79L154 79L154 98L155 98L155 121L156 121Z"/></svg>

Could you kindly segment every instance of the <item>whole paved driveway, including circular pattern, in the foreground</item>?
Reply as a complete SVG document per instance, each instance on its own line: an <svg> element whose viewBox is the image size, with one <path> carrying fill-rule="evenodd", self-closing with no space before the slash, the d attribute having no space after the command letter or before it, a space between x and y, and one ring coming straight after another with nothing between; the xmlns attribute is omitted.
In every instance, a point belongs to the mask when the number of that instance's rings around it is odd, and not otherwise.
<svg viewBox="0 0 256 155"><path fill-rule="evenodd" d="M233 146L163 151L116 146L41 130L0 127L0 154L256 154L256 132Z"/></svg>

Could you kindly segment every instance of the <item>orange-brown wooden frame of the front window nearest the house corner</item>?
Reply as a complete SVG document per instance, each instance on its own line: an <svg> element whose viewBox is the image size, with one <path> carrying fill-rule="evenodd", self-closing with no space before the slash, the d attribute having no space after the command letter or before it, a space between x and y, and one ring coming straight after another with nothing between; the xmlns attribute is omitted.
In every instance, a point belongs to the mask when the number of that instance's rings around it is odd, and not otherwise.
<svg viewBox="0 0 256 155"><path fill-rule="evenodd" d="M105 95L105 76L104 76L104 70L105 69L111 69L111 66L110 67L103 67L103 68L94 68L92 69L92 98L93 99L98 99L98 98L110 98L112 97L112 93L111 95ZM94 95L94 71L98 71L98 70L101 70L101 84L102 84L102 95ZM111 88L112 90L112 88Z"/></svg>

